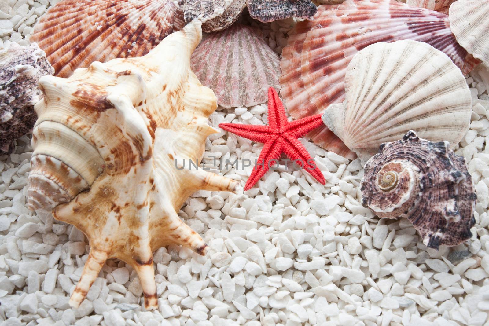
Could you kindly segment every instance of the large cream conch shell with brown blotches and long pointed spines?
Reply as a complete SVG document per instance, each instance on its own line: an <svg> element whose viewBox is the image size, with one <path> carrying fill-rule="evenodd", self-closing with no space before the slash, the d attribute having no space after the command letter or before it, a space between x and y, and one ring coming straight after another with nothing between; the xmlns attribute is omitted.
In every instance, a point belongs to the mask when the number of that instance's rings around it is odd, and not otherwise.
<svg viewBox="0 0 489 326"><path fill-rule="evenodd" d="M207 124L216 97L190 69L200 24L189 23L143 57L94 62L70 78L40 81L45 97L35 107L28 205L49 208L64 198L69 202L56 206L54 217L90 241L74 307L105 261L118 258L133 266L146 308L155 308L152 252L176 243L205 254L206 244L178 209L199 189L237 187L218 174L180 167L182 159L199 162L206 137L217 132Z"/></svg>

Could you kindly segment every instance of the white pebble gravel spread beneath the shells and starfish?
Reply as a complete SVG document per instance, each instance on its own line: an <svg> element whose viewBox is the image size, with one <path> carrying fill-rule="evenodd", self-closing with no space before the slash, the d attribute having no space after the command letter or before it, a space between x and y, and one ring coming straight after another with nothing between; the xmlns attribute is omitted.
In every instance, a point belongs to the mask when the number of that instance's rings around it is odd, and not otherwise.
<svg viewBox="0 0 489 326"><path fill-rule="evenodd" d="M53 2L1 0L1 40L26 43ZM291 23L260 25L277 53ZM107 261L79 309L69 307L88 241L25 208L32 148L22 137L0 156L0 326L489 325L488 80L488 70L467 76L473 121L456 151L478 196L472 239L427 249L407 219L378 219L362 207L358 160L302 139L325 186L279 165L247 192L199 191L186 201L179 216L209 244L208 255L172 245L156 251L156 311L144 311L136 273L118 260ZM267 106L218 108L210 124L221 122L264 124ZM209 136L204 164L244 186L252 166L243 160L261 149L222 131ZM239 166L216 167L214 157Z"/></svg>

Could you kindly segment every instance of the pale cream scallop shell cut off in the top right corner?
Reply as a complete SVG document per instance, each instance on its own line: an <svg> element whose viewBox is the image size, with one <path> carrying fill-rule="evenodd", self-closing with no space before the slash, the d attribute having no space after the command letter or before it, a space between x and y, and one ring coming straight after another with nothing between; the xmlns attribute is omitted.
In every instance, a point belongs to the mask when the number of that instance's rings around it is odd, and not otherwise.
<svg viewBox="0 0 489 326"><path fill-rule="evenodd" d="M450 28L457 42L489 64L489 1L459 0L450 6Z"/></svg>

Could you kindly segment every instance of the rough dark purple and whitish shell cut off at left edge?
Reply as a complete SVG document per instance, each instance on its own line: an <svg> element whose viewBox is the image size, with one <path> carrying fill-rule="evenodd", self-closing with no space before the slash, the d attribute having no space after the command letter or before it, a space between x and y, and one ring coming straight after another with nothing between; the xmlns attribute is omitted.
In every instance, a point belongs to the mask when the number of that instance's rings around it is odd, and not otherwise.
<svg viewBox="0 0 489 326"><path fill-rule="evenodd" d="M39 78L52 75L53 67L36 43L4 43L0 49L0 153L14 150L14 140L32 130L40 99Z"/></svg>

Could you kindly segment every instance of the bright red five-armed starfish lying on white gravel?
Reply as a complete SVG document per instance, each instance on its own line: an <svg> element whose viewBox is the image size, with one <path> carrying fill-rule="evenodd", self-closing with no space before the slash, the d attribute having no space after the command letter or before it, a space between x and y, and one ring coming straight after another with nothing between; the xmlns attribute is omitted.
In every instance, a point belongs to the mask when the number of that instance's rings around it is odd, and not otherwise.
<svg viewBox="0 0 489 326"><path fill-rule="evenodd" d="M282 101L275 89L270 87L268 89L268 126L221 123L219 127L238 136L265 144L258 157L258 163L244 186L244 190L248 190L260 180L271 165L278 162L282 153L286 153L295 164L305 168L317 181L325 184L321 170L316 166L304 145L297 140L322 124L321 114L289 122Z"/></svg>

